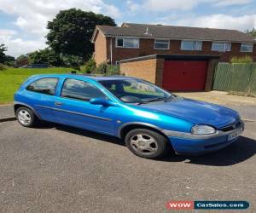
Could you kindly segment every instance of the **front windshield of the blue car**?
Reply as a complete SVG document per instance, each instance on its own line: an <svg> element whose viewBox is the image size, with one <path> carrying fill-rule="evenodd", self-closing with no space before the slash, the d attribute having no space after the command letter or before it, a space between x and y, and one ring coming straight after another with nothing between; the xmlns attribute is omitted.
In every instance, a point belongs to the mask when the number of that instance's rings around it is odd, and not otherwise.
<svg viewBox="0 0 256 213"><path fill-rule="evenodd" d="M139 79L115 79L100 81L119 100L126 103L148 103L165 101L173 95L163 89Z"/></svg>

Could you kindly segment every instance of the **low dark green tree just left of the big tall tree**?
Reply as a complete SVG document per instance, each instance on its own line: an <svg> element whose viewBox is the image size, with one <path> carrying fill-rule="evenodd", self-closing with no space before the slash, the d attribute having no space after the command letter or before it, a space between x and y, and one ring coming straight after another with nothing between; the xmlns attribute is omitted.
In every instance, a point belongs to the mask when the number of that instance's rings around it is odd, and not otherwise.
<svg viewBox="0 0 256 213"><path fill-rule="evenodd" d="M30 64L49 64L51 66L61 66L60 55L56 54L52 49L39 49L28 54Z"/></svg>

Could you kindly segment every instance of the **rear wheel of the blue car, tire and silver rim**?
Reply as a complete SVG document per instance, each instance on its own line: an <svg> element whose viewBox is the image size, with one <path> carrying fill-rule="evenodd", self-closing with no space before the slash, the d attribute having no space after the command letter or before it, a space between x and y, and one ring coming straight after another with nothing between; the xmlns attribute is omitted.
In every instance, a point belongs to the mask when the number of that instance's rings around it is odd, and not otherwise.
<svg viewBox="0 0 256 213"><path fill-rule="evenodd" d="M35 113L27 107L19 107L15 115L20 125L25 127L32 127L38 122Z"/></svg>

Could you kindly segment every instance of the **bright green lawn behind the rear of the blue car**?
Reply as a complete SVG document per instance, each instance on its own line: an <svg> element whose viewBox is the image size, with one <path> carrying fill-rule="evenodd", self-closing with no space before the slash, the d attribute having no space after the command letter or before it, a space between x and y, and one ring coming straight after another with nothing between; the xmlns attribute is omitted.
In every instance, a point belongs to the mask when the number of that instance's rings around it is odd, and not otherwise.
<svg viewBox="0 0 256 213"><path fill-rule="evenodd" d="M58 74L67 73L73 68L7 68L0 71L0 104L6 104L14 101L15 91L20 87L26 78L36 74Z"/></svg>

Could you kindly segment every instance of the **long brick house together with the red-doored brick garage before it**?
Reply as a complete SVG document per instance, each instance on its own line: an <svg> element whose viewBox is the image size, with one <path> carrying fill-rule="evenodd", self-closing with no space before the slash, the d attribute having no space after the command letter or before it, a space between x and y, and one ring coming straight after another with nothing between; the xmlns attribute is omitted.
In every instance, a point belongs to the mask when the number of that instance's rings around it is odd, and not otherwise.
<svg viewBox="0 0 256 213"><path fill-rule="evenodd" d="M120 63L125 75L168 90L209 90L218 61L256 61L256 41L236 30L124 23L96 26L91 42L97 65Z"/></svg>

